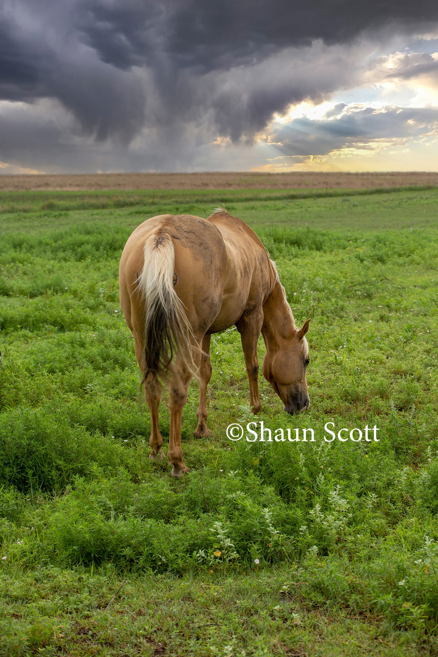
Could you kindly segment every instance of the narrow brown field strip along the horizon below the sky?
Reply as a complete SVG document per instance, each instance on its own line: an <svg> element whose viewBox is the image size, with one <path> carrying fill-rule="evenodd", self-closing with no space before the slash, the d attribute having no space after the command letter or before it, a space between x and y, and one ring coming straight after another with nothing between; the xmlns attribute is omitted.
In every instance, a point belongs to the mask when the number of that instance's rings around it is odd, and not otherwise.
<svg viewBox="0 0 438 657"><path fill-rule="evenodd" d="M320 189L436 185L438 173L87 173L0 175L0 191L135 189Z"/></svg>

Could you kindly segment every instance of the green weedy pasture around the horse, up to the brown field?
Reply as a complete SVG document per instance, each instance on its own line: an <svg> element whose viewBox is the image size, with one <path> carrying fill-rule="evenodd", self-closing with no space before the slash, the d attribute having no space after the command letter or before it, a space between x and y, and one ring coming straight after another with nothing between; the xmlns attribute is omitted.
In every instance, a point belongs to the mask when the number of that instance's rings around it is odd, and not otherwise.
<svg viewBox="0 0 438 657"><path fill-rule="evenodd" d="M311 408L287 416L262 378L255 419L236 330L213 336L211 438L192 382L173 480L148 459L118 261L146 217L220 202L312 318ZM438 654L438 191L3 193L0 212L0 655ZM252 420L315 442L227 440ZM324 442L326 422L380 440Z"/></svg>

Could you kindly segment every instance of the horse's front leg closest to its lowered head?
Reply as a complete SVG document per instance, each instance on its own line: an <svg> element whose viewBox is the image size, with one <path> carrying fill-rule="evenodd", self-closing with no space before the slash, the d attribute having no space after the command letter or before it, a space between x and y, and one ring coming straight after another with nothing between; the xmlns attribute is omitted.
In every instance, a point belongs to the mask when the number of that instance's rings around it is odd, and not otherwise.
<svg viewBox="0 0 438 657"><path fill-rule="evenodd" d="M240 333L242 349L244 351L246 373L250 383L250 407L253 413L261 409L259 396L259 360L257 358L257 342L263 325L263 311L253 312L246 317L240 317L236 328Z"/></svg>

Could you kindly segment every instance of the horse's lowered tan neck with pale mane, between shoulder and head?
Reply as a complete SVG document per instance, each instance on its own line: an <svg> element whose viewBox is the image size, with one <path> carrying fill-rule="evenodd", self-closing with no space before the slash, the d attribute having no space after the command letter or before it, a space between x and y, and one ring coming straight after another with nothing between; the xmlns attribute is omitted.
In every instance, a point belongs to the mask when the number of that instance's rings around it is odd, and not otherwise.
<svg viewBox="0 0 438 657"><path fill-rule="evenodd" d="M261 332L267 346L276 344L281 338L287 339L296 330L294 315L278 278L263 304L263 315Z"/></svg>

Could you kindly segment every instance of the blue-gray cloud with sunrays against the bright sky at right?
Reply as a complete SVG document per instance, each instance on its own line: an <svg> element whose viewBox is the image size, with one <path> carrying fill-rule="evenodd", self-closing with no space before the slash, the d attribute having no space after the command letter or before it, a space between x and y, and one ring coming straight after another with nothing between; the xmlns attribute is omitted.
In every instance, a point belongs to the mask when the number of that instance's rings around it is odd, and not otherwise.
<svg viewBox="0 0 438 657"><path fill-rule="evenodd" d="M338 105L323 120L297 118L278 127L271 135L275 148L285 156L326 155L333 150L356 147L366 150L377 143L408 142L423 138L438 127L437 108L400 108Z"/></svg>

